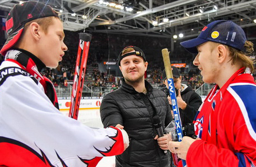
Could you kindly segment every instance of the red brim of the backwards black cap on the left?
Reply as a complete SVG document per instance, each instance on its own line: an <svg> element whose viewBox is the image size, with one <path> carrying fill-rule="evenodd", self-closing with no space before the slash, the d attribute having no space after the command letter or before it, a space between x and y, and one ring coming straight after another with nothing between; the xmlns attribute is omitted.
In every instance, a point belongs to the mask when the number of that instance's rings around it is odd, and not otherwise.
<svg viewBox="0 0 256 167"><path fill-rule="evenodd" d="M19 40L20 36L22 35L22 32L24 30L24 27L21 27L16 32L12 33L6 40L3 48L0 50L0 53L5 56L6 51L9 50L12 46L14 46L15 43Z"/></svg>

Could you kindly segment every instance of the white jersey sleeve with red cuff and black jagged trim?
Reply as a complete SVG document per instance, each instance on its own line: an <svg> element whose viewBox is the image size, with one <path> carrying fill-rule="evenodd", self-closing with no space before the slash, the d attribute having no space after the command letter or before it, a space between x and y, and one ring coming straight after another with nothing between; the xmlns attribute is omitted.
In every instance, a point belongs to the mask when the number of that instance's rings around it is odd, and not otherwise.
<svg viewBox="0 0 256 167"><path fill-rule="evenodd" d="M52 165L63 161L67 166L84 166L83 160L124 150L120 129L93 129L62 115L29 77L8 78L0 94L0 136L44 153Z"/></svg>

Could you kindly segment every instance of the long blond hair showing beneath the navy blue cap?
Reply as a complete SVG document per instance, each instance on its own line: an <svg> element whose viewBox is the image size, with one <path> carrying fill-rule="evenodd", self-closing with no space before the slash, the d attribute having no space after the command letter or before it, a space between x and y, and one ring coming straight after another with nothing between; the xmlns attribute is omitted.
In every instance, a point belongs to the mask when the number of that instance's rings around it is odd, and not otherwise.
<svg viewBox="0 0 256 167"><path fill-rule="evenodd" d="M214 45L211 45L211 51L220 45L220 43L212 42ZM224 45L224 44L223 44ZM253 43L250 41L245 41L244 48L245 50L241 51L236 48L233 48L231 46L224 45L229 50L229 56L231 59L229 61L231 62L231 65L234 64L241 64L241 67L249 68L250 72L252 73L254 71L254 59L251 59L249 56L253 53Z"/></svg>

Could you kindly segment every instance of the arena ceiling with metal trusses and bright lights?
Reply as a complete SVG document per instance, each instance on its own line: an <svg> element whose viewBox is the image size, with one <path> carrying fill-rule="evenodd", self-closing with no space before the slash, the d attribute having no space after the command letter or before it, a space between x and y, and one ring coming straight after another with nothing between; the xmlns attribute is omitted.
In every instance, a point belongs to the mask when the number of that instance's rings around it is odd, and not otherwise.
<svg viewBox="0 0 256 167"><path fill-rule="evenodd" d="M19 0L0 1L7 11ZM64 29L173 38L197 36L210 21L256 25L256 0L40 0L59 12ZM6 12L6 15L7 15ZM254 22L254 21L255 22Z"/></svg>

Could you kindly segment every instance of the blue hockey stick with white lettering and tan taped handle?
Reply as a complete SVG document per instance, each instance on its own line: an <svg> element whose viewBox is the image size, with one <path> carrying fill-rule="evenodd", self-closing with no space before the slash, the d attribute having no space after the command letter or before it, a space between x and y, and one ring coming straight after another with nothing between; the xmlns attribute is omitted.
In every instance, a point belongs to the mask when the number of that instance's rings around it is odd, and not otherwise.
<svg viewBox="0 0 256 167"><path fill-rule="evenodd" d="M168 51L167 48L162 49L162 56L163 56L163 63L164 63L166 78L168 80L168 87L169 87L168 89L169 89L170 99L172 100L172 106L173 106L173 112L174 112L174 119L175 119L175 126L176 126L178 141L181 142L182 137L183 137L182 124L181 124L181 120L180 120L179 107L177 105L172 66L170 66L169 51ZM182 164L183 164L183 166L186 166L186 161L182 160Z"/></svg>

